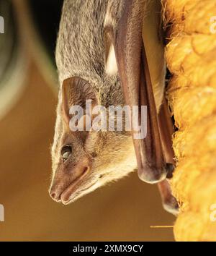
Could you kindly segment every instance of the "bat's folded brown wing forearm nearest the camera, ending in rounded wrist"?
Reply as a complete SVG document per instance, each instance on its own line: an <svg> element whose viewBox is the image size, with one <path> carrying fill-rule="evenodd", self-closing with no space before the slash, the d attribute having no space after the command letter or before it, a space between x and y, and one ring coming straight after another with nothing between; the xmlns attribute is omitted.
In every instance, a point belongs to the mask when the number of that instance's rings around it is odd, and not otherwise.
<svg viewBox="0 0 216 256"><path fill-rule="evenodd" d="M145 182L156 183L166 179L167 171L153 85L142 38L144 3L145 1L138 0L125 1L117 24L114 48L126 104L131 107L139 106L139 119L140 107L147 106L147 135L140 139L133 136L138 175Z"/></svg>

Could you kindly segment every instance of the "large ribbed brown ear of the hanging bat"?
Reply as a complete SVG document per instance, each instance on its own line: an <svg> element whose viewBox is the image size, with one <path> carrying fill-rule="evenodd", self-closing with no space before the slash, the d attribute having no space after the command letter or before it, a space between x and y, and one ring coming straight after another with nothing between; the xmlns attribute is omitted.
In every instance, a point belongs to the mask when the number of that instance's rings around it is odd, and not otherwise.
<svg viewBox="0 0 216 256"><path fill-rule="evenodd" d="M81 77L70 77L63 81L62 85L62 115L66 126L71 119L71 106L81 106L84 111L86 101L91 100L91 106L94 107L98 101L93 88L86 80Z"/></svg>

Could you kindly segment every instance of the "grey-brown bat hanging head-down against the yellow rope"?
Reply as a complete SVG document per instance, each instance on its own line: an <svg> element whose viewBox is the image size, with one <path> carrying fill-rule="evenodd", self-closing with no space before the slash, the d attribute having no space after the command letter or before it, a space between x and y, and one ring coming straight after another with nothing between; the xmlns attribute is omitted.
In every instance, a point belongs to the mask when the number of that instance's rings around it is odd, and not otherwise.
<svg viewBox="0 0 216 256"><path fill-rule="evenodd" d="M164 208L178 210L167 180L174 154L171 119L161 107L165 66L161 82L153 83L142 37L147 11L145 0L64 1L56 46L60 90L50 185L57 202L73 202L138 169L144 182L158 183ZM147 106L146 137L135 138L133 128L72 131L70 108L84 108L81 119L86 120L86 100L93 107Z"/></svg>

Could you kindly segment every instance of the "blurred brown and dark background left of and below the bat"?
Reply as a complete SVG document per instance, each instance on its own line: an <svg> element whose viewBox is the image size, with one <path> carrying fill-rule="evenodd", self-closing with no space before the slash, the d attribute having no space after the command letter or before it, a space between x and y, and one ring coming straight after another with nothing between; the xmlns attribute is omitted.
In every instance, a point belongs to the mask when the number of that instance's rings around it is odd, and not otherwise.
<svg viewBox="0 0 216 256"><path fill-rule="evenodd" d="M156 186L136 173L71 205L50 199L63 0L0 0L0 241L173 241Z"/></svg>

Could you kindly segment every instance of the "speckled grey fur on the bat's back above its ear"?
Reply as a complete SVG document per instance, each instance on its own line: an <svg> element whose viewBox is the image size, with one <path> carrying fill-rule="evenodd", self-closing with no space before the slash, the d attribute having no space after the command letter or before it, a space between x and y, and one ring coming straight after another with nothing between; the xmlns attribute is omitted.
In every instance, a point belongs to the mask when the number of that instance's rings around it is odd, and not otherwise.
<svg viewBox="0 0 216 256"><path fill-rule="evenodd" d="M64 1L56 47L60 85L66 78L78 76L89 81L101 97L102 90L116 85L117 77L107 77L104 69L107 4L108 0ZM120 90L120 85L115 90Z"/></svg>

